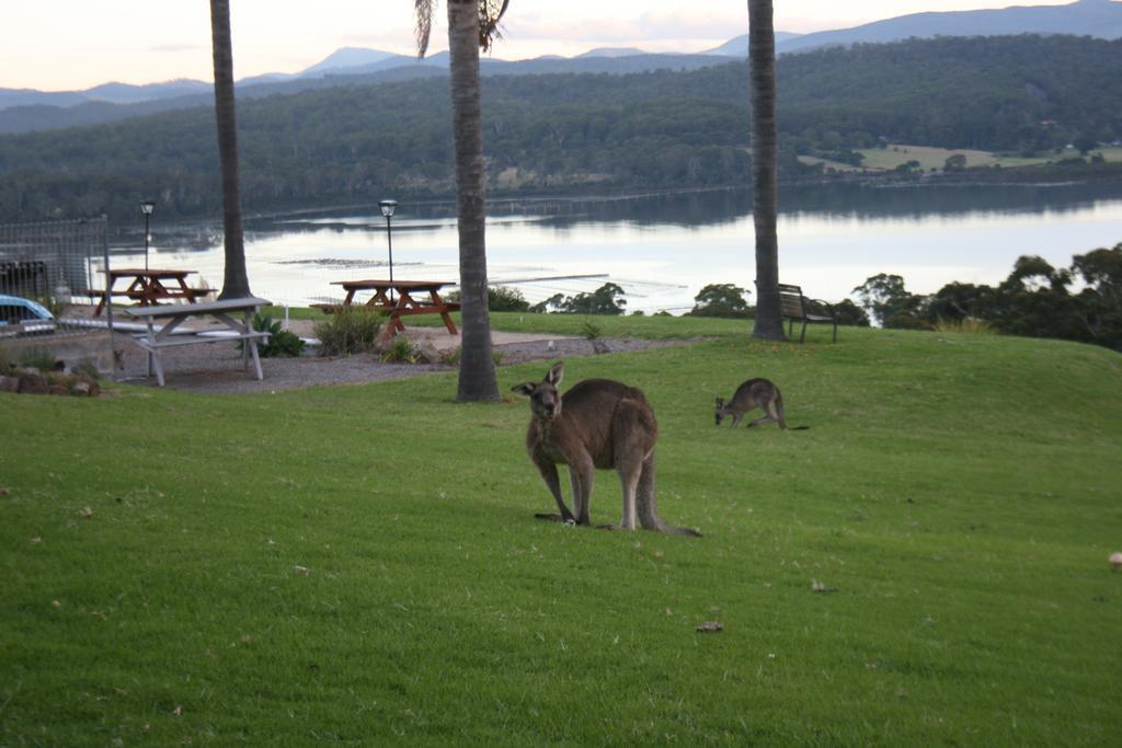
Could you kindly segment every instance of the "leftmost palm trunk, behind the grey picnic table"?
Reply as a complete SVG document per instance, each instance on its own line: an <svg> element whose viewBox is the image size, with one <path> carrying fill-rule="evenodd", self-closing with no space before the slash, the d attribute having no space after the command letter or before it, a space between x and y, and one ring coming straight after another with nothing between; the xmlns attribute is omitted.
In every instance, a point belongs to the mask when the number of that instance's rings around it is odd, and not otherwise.
<svg viewBox="0 0 1122 748"><path fill-rule="evenodd" d="M238 176L238 128L233 112L233 48L230 41L230 0L211 0L211 46L214 53L214 119L222 169L222 229L226 271L219 298L251 296L246 274L241 230L241 188Z"/></svg>

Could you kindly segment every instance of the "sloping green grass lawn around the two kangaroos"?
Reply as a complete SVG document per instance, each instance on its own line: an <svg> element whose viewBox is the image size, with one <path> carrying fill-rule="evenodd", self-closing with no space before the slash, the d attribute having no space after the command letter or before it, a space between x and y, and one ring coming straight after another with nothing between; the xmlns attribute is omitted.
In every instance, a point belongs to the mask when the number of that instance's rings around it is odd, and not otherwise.
<svg viewBox="0 0 1122 748"><path fill-rule="evenodd" d="M505 330L579 318L495 315ZM533 518L528 408L456 376L0 394L0 745L1113 744L1122 357L597 320L663 518ZM504 393L549 363L499 369ZM753 376L804 432L717 428ZM592 519L618 520L598 474ZM818 581L826 592L816 592ZM696 627L720 621L724 631ZM1110 736L1115 736L1111 738Z"/></svg>

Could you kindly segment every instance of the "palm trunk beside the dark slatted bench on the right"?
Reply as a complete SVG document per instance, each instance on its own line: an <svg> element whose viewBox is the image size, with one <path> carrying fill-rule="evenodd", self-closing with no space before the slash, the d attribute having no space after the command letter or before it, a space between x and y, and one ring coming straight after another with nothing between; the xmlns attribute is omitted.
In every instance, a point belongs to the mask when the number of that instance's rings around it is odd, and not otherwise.
<svg viewBox="0 0 1122 748"><path fill-rule="evenodd" d="M754 338L787 340L779 305L779 237L775 29L772 0L748 0L748 59L752 66L752 202L756 228L756 323Z"/></svg>

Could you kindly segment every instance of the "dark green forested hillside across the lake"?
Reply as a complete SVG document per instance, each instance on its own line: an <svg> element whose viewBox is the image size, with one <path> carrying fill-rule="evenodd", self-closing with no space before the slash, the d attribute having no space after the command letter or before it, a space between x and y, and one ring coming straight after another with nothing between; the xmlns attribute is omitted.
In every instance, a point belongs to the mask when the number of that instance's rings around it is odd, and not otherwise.
<svg viewBox="0 0 1122 748"><path fill-rule="evenodd" d="M484 81L493 193L748 183L747 66ZM1039 151L1122 138L1122 41L858 45L779 64L781 172L877 142ZM242 101L247 211L451 194L444 76ZM0 138L0 220L219 211L208 108Z"/></svg>

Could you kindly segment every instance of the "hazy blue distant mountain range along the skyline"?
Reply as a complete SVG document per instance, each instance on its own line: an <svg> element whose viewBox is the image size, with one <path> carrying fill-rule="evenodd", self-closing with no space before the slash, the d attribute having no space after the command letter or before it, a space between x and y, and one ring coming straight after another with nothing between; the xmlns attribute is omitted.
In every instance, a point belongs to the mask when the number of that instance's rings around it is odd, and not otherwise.
<svg viewBox="0 0 1122 748"><path fill-rule="evenodd" d="M901 16L863 26L816 34L775 34L779 54L824 46L888 43L911 37L1072 34L1122 38L1122 2L1077 0L1066 6L1010 7ZM747 34L698 54L651 54L637 48L604 47L576 57L553 55L517 62L485 57L484 75L546 73L635 73L693 70L747 56ZM346 47L300 73L269 73L238 82L240 96L267 96L313 87L435 75L448 67L448 53L417 59L378 49ZM108 122L211 102L212 85L178 80L148 85L107 83L85 91L43 92L0 89L0 133Z"/></svg>

